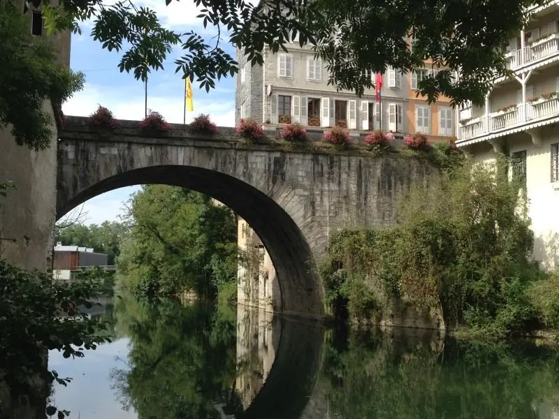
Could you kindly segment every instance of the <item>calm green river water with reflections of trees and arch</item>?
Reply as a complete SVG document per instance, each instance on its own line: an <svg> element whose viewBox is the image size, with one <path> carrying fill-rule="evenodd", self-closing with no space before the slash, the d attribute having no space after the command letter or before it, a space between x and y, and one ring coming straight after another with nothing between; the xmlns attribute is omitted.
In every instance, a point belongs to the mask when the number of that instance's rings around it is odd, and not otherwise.
<svg viewBox="0 0 559 419"><path fill-rule="evenodd" d="M114 322L112 343L49 356L73 377L52 397L71 418L559 418L559 356L533 342L326 330L131 297L94 315Z"/></svg>

